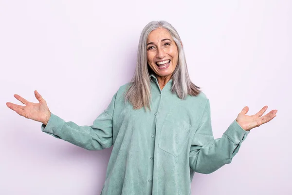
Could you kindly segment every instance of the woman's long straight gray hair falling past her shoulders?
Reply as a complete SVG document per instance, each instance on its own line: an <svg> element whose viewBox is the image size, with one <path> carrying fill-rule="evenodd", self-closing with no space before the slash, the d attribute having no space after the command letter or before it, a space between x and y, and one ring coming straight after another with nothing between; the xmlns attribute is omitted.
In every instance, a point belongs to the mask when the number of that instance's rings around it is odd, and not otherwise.
<svg viewBox="0 0 292 195"><path fill-rule="evenodd" d="M178 32L166 21L151 21L141 32L135 73L125 93L125 101L128 100L132 104L133 109L144 107L145 109L148 108L151 110L150 74L153 73L153 71L147 64L146 41L150 32L157 28L168 30L178 48L178 64L172 75L172 93L176 93L179 98L184 99L187 95L198 96L201 92L200 87L192 83L189 78L181 38Z"/></svg>

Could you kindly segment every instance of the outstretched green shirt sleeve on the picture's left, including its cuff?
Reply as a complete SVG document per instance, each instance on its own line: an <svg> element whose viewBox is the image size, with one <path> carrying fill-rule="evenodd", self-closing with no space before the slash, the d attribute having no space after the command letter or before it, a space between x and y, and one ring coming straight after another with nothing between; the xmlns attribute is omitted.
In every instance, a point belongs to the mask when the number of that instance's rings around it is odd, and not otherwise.
<svg viewBox="0 0 292 195"><path fill-rule="evenodd" d="M114 94L108 108L93 121L91 126L79 126L72 121L65 122L51 112L47 125L42 124L41 130L87 150L109 148L113 144L112 116L116 95L117 93Z"/></svg>

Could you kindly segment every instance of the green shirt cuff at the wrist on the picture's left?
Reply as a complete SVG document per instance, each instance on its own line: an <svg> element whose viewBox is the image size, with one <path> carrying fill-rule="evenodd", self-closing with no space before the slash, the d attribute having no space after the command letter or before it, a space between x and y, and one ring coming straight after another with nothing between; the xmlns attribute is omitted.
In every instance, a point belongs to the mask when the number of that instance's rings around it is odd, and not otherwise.
<svg viewBox="0 0 292 195"><path fill-rule="evenodd" d="M62 118L54 115L51 112L51 117L49 118L47 125L44 124L41 125L41 131L51 136L60 138L59 135L61 134L61 129L64 126L64 124L65 121Z"/></svg>

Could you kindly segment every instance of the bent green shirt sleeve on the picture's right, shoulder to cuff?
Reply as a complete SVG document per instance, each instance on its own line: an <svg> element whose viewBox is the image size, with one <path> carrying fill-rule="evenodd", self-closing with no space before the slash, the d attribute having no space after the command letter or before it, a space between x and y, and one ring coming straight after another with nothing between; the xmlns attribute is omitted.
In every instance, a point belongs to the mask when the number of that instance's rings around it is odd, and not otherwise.
<svg viewBox="0 0 292 195"><path fill-rule="evenodd" d="M214 139L208 99L201 123L192 139L189 156L190 167L195 172L210 174L224 164L231 163L242 141L249 133L250 131L242 129L234 120L221 138Z"/></svg>

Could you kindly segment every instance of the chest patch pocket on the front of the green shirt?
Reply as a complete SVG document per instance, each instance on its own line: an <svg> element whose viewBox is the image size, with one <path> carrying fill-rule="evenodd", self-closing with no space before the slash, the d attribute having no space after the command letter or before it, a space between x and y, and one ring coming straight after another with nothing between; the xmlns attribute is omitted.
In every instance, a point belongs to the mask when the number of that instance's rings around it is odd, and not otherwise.
<svg viewBox="0 0 292 195"><path fill-rule="evenodd" d="M191 128L183 119L167 114L158 139L159 148L173 156L179 156L187 143Z"/></svg>

